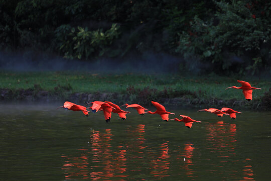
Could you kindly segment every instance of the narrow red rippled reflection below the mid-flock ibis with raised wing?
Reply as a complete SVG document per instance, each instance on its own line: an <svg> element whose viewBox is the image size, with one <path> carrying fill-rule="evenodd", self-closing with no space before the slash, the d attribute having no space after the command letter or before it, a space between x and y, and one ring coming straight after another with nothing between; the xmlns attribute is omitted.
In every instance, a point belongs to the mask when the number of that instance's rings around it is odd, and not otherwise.
<svg viewBox="0 0 271 181"><path fill-rule="evenodd" d="M165 176L169 176L169 165L170 165L170 156L169 156L169 146L167 143L163 143L160 145L161 155L157 158L151 161L153 171L151 171L151 174L153 174L155 177L163 178Z"/></svg>

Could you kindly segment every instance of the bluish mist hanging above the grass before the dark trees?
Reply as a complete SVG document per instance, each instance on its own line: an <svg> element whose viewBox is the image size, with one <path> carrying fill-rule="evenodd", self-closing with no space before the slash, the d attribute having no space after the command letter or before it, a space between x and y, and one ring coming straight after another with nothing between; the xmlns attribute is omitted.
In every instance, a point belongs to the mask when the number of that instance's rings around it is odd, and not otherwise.
<svg viewBox="0 0 271 181"><path fill-rule="evenodd" d="M145 52L122 58L97 58L93 61L71 60L37 53L0 52L0 69L11 71L92 71L93 73L174 73L179 71L181 58L164 53Z"/></svg>

